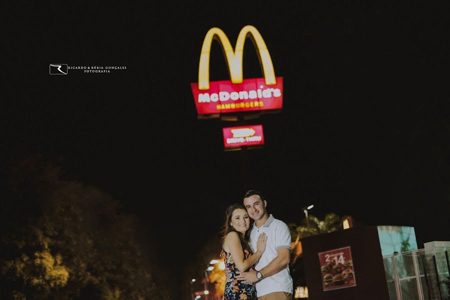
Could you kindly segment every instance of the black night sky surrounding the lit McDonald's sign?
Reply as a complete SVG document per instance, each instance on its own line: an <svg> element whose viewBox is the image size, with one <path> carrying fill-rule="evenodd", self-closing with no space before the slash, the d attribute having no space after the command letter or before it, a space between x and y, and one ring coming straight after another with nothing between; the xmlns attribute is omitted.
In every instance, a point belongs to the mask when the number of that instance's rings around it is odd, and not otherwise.
<svg viewBox="0 0 450 300"><path fill-rule="evenodd" d="M245 163L248 186L286 222L313 203L318 216L414 226L419 247L450 240L443 3L9 4L4 161L62 157L66 173L144 219L162 259L177 263L240 200ZM229 123L197 119L190 83L206 31L221 28L234 46L247 24L264 38L284 97L282 112L254 120L265 145L245 162L239 151L223 151ZM126 70L56 76L49 63ZM229 79L216 42L210 68L211 80ZM243 74L262 76L249 40Z"/></svg>

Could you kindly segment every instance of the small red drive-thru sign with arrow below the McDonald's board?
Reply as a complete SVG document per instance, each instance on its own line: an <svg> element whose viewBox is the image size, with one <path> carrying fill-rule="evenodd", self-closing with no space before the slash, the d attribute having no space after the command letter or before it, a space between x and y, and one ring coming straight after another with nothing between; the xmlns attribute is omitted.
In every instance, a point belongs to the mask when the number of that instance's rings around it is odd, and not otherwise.
<svg viewBox="0 0 450 300"><path fill-rule="evenodd" d="M225 148L264 144L262 125L224 127L222 131Z"/></svg>

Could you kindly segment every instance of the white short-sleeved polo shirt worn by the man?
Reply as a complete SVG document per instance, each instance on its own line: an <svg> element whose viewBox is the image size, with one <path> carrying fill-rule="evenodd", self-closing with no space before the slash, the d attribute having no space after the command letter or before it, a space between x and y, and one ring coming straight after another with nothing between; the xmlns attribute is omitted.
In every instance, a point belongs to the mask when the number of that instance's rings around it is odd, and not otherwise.
<svg viewBox="0 0 450 300"><path fill-rule="evenodd" d="M290 231L287 225L270 214L267 221L261 227L258 228L253 223L250 232L250 243L253 250L256 250L256 242L259 234L262 232L265 232L265 235L267 236L267 243L265 245L265 251L262 253L261 257L259 257L259 260L255 265L255 269L258 271L269 264L269 262L278 255L276 252L277 249L290 249L291 243ZM275 291L292 293L292 278L290 277L288 265L279 272L264 277L256 282L256 296L258 297Z"/></svg>

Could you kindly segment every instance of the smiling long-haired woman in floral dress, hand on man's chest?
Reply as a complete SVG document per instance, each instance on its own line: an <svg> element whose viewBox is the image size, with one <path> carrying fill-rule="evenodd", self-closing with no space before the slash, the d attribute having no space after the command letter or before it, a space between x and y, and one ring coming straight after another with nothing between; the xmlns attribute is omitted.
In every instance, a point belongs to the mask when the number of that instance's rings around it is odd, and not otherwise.
<svg viewBox="0 0 450 300"><path fill-rule="evenodd" d="M247 271L265 250L265 233L258 236L256 251L251 252L250 217L242 203L233 203L226 208L223 243L220 256L229 268L223 300L257 300L253 283L242 283L235 279L236 271Z"/></svg>

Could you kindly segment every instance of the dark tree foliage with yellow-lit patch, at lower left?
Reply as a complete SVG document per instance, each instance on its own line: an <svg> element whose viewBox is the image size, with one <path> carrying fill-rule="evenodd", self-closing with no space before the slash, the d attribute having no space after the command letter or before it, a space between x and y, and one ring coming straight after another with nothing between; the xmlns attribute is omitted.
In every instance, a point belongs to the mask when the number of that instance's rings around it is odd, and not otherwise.
<svg viewBox="0 0 450 300"><path fill-rule="evenodd" d="M36 157L15 168L10 186L1 218L1 296L162 298L135 234L138 220L120 213L109 195L63 179L60 168Z"/></svg>

